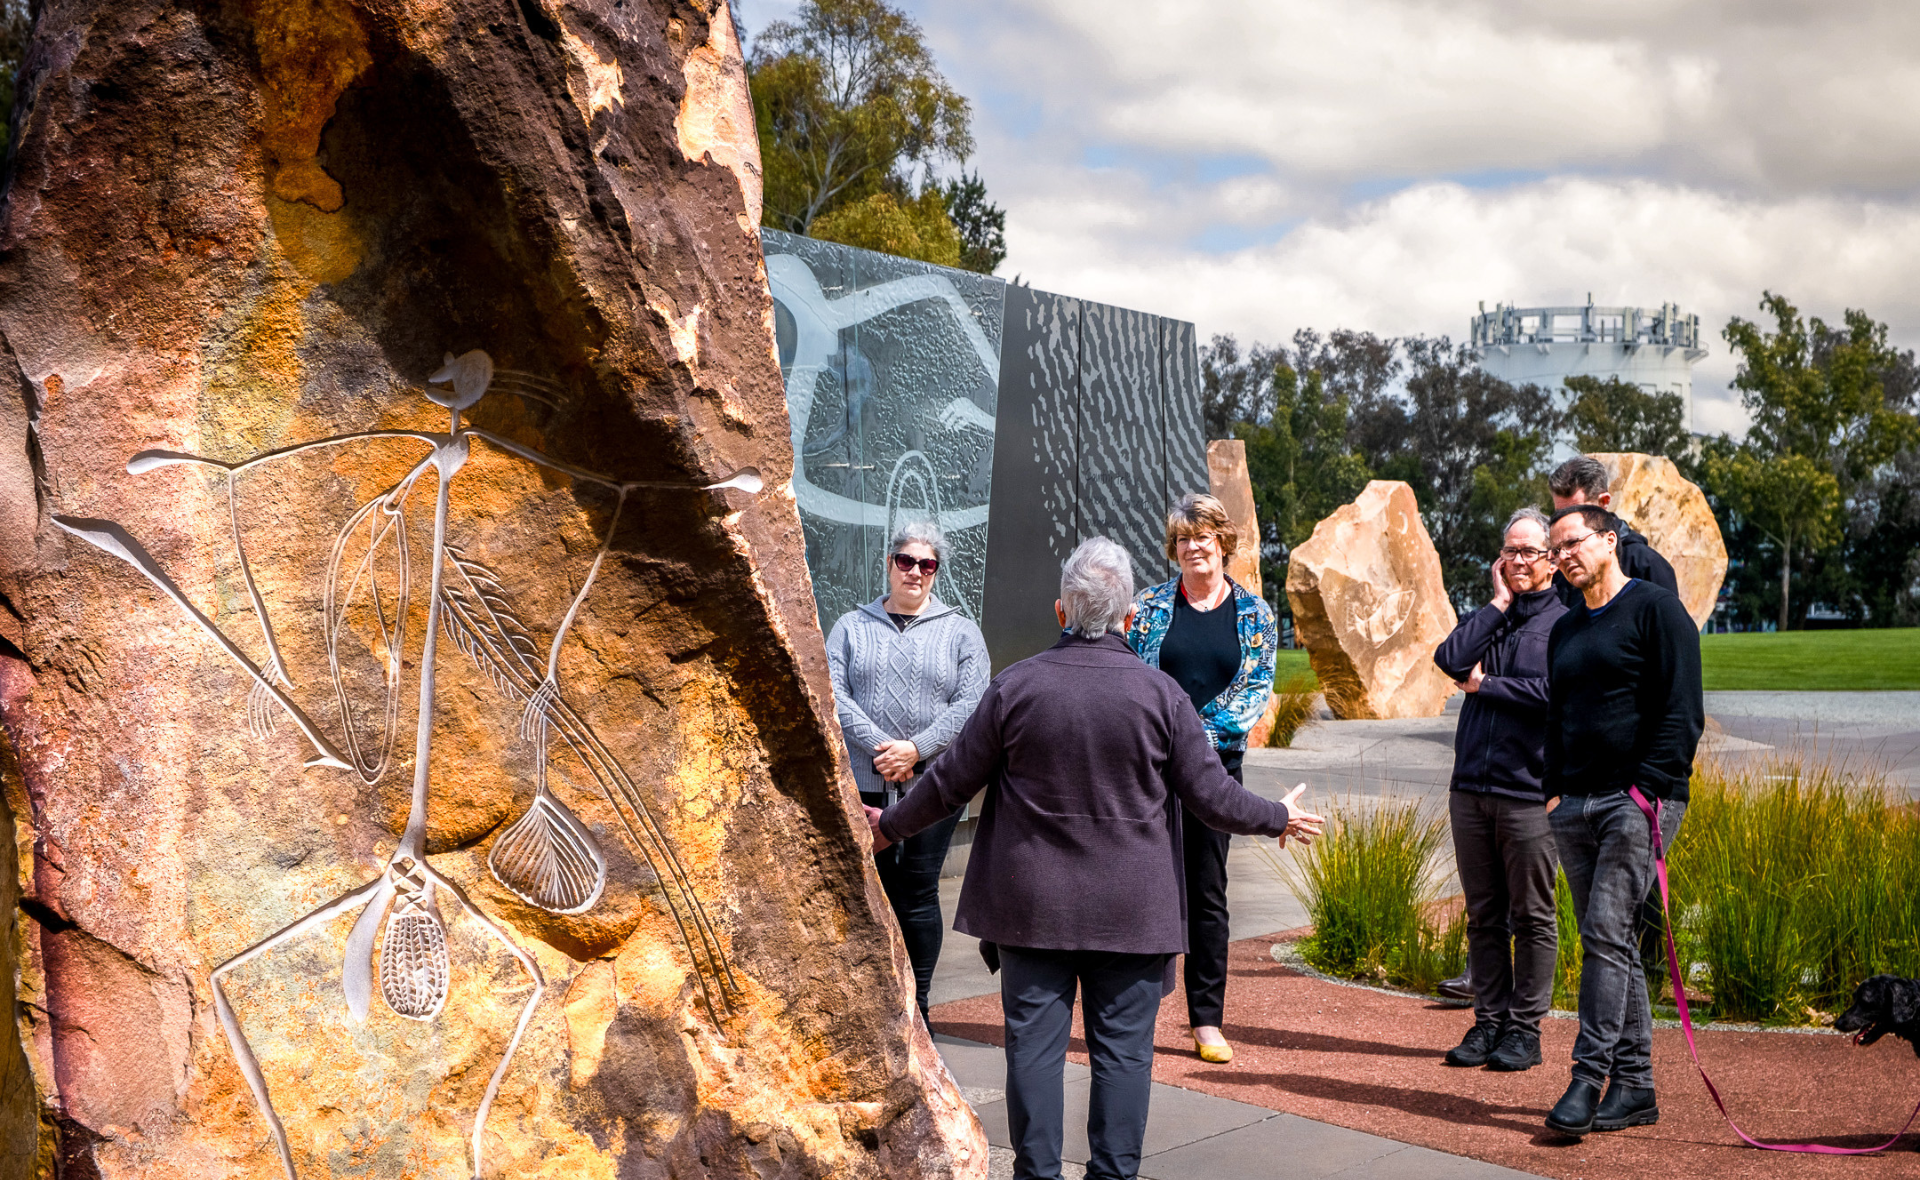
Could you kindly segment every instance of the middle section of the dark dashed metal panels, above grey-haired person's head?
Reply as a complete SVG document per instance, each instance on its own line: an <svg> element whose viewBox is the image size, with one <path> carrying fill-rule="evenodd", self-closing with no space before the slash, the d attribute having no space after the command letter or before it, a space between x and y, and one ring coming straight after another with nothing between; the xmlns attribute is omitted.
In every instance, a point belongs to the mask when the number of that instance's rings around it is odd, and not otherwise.
<svg viewBox="0 0 1920 1180"><path fill-rule="evenodd" d="M1081 330L1079 535L1133 555L1137 587L1165 581L1167 443L1160 397L1160 324L1140 311L1087 303Z"/></svg>

